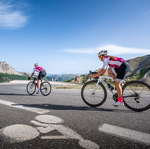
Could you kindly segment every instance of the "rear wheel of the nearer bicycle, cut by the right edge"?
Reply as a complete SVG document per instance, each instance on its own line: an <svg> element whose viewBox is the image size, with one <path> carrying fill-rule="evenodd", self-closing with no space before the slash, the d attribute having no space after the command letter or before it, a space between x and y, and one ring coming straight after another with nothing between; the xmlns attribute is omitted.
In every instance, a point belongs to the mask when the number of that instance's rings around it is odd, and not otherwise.
<svg viewBox="0 0 150 149"><path fill-rule="evenodd" d="M150 86L142 81L130 81L123 86L124 104L141 112L150 108Z"/></svg>

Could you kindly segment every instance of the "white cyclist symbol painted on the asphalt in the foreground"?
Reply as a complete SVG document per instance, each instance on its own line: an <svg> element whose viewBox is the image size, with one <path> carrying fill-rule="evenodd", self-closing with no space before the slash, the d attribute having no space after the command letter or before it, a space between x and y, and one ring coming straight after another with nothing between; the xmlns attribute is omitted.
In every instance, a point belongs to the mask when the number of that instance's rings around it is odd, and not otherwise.
<svg viewBox="0 0 150 149"><path fill-rule="evenodd" d="M71 128L60 125L64 122L63 119L53 115L38 115L36 119L39 121L31 120L30 122L35 124L36 127L28 126L24 124L10 125L0 130L0 135L6 138L9 137L11 142L23 142L32 140L38 136L41 139L77 139L78 144L85 149L99 149L99 146L90 140L84 140L84 138ZM42 122L42 123L41 123ZM48 123L48 124L46 124ZM52 124L51 124L52 123ZM54 124L56 123L56 124ZM37 127L38 126L38 127ZM53 130L61 133L60 135L51 135ZM48 134L49 133L49 134ZM44 135L43 135L44 134ZM46 135L47 134L47 135Z"/></svg>

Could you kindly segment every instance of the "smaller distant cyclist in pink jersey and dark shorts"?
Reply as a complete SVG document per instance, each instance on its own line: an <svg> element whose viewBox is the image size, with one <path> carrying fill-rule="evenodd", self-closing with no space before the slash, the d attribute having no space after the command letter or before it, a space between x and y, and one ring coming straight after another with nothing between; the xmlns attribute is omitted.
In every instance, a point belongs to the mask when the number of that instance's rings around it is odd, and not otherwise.
<svg viewBox="0 0 150 149"><path fill-rule="evenodd" d="M40 81L42 81L43 77L46 76L46 71L45 69L43 69L42 67L38 66L38 64L34 64L34 68L33 68L33 72L31 74L31 76L28 78L29 80L32 78L32 76L34 75L34 73L38 72L38 77L37 77L37 86L38 86L38 90L37 90L37 94L40 93Z"/></svg>

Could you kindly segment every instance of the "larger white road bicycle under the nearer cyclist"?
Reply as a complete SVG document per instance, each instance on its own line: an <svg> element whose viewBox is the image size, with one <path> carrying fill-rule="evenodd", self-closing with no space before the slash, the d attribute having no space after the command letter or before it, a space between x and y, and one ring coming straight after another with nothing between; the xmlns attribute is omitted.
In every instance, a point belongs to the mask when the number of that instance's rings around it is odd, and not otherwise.
<svg viewBox="0 0 150 149"><path fill-rule="evenodd" d="M95 74L96 72L90 72ZM106 88L112 93L115 102L118 101L118 95L114 92L114 87L106 83L104 79L113 79L111 77L99 76L95 80L86 82L81 89L83 101L91 106L101 106L107 99ZM127 81L122 87L124 105L134 111L141 112L150 108L150 86L142 81Z"/></svg>

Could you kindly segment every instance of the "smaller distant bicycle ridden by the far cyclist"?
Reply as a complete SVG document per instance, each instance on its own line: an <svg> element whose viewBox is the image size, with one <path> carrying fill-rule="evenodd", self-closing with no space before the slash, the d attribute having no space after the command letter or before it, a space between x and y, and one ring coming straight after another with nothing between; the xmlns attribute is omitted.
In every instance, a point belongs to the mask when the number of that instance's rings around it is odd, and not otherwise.
<svg viewBox="0 0 150 149"><path fill-rule="evenodd" d="M26 90L29 95L33 95L37 88L37 78L32 77L33 81L30 81L27 84ZM51 93L52 87L51 84L47 81L41 82L40 91L44 96L48 96Z"/></svg>

